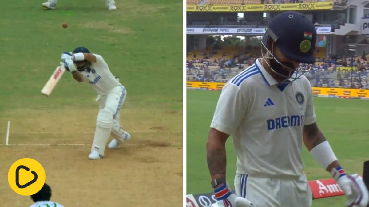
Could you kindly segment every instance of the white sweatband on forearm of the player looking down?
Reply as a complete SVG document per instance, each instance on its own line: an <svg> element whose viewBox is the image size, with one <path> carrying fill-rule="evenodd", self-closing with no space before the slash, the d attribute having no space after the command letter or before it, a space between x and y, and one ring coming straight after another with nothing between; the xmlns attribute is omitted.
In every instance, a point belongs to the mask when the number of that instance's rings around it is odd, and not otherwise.
<svg viewBox="0 0 369 207"><path fill-rule="evenodd" d="M337 160L336 155L329 145L328 141L324 141L313 149L311 149L310 154L313 155L314 159L319 162L323 168L327 168L328 165L332 164L332 162Z"/></svg>

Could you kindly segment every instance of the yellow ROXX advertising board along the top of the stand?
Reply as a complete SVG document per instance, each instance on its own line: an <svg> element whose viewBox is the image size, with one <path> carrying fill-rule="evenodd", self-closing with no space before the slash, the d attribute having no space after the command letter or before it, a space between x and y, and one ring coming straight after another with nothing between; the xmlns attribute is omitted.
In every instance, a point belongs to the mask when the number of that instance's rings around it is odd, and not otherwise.
<svg viewBox="0 0 369 207"><path fill-rule="evenodd" d="M293 4L246 4L246 5L187 5L186 11L201 12L247 12L247 11L296 11L296 10L330 10L333 1Z"/></svg>

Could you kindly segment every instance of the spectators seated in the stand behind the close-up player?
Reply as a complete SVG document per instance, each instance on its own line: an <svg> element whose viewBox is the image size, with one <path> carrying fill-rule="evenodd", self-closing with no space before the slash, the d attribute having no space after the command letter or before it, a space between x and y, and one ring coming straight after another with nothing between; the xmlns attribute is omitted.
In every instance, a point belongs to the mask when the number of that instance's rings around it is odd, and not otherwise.
<svg viewBox="0 0 369 207"><path fill-rule="evenodd" d="M256 57L249 55L234 55L223 53L222 57L212 59L216 50L209 54L200 53L202 57L192 56L187 59L187 81L224 82L234 76L233 71L240 72L254 64ZM187 56L188 57L188 56ZM369 89L369 67L365 56L342 57L331 56L326 58L316 57L316 64L305 73L313 87L340 87L340 88L365 88ZM195 67L196 65L196 67ZM211 67L211 69L209 68Z"/></svg>

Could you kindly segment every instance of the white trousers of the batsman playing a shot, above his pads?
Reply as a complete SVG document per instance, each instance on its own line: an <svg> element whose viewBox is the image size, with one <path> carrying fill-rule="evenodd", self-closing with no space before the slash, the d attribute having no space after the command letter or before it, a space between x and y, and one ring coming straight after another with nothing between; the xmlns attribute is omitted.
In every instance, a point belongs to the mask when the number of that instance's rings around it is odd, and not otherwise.
<svg viewBox="0 0 369 207"><path fill-rule="evenodd" d="M127 91L125 88L120 85L113 88L107 95L105 96L97 96L96 101L99 103L99 109L110 108L114 110L113 115L113 129L119 129L120 127L120 117L119 112L122 107L125 97L127 96ZM113 133L113 131L111 132Z"/></svg>

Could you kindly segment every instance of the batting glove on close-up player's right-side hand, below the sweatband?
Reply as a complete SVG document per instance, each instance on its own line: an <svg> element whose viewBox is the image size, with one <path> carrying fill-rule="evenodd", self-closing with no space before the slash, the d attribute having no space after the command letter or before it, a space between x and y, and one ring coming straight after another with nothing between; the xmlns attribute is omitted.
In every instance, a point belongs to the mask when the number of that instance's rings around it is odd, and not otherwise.
<svg viewBox="0 0 369 207"><path fill-rule="evenodd" d="M345 193L348 201L348 207L366 207L369 204L369 193L366 189L362 177L358 174L346 175L345 171L338 166L331 171L333 178L336 180L339 188Z"/></svg>

